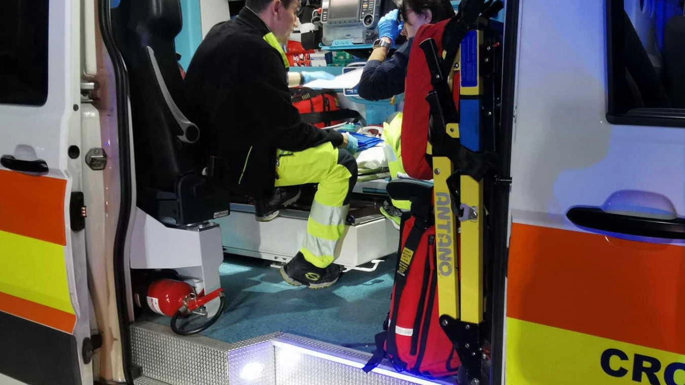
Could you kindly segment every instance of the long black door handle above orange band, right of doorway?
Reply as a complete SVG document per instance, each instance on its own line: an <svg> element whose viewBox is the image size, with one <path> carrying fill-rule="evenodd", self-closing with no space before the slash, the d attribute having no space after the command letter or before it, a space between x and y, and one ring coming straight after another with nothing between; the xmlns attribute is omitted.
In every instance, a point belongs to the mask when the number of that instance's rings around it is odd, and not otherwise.
<svg viewBox="0 0 685 385"><path fill-rule="evenodd" d="M660 220L607 213L597 207L573 207L566 217L576 224L597 230L638 235L640 237L685 239L685 219Z"/></svg>

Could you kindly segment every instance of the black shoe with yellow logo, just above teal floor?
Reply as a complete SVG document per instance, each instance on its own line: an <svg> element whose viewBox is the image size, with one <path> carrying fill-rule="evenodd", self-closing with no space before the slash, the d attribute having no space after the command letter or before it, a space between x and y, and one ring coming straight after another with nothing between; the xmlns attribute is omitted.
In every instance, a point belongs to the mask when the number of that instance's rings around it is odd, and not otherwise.
<svg viewBox="0 0 685 385"><path fill-rule="evenodd" d="M309 263L301 252L280 269L283 279L294 286L305 285L310 289L322 289L333 286L340 278L340 266L331 263L325 268Z"/></svg>

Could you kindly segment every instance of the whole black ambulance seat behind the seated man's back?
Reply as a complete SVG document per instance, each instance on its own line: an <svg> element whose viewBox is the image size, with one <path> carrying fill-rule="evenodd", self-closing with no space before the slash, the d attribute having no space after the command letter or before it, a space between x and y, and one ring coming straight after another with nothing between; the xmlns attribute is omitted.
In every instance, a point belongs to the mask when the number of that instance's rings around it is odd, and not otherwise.
<svg viewBox="0 0 685 385"><path fill-rule="evenodd" d="M122 0L112 21L129 75L138 207L166 224L227 215L227 190L201 176L206 165L192 157L202 131L182 112L179 0Z"/></svg>

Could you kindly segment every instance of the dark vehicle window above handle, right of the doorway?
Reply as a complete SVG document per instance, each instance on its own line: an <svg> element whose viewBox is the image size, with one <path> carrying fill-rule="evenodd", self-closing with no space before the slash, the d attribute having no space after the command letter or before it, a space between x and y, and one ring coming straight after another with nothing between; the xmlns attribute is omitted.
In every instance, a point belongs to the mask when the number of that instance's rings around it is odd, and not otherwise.
<svg viewBox="0 0 685 385"><path fill-rule="evenodd" d="M682 0L607 0L608 111L614 124L685 127Z"/></svg>

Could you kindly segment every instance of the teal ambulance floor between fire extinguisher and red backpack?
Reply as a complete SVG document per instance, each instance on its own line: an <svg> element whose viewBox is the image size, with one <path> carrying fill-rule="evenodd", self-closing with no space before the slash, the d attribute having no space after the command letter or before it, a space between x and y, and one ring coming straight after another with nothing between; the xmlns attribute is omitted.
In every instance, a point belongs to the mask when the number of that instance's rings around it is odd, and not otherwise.
<svg viewBox="0 0 685 385"><path fill-rule="evenodd" d="M269 261L227 255L221 287L227 309L201 334L227 342L286 332L373 351L390 308L395 256L376 271L348 271L329 288L312 290L284 282ZM169 318L154 317L158 323Z"/></svg>

